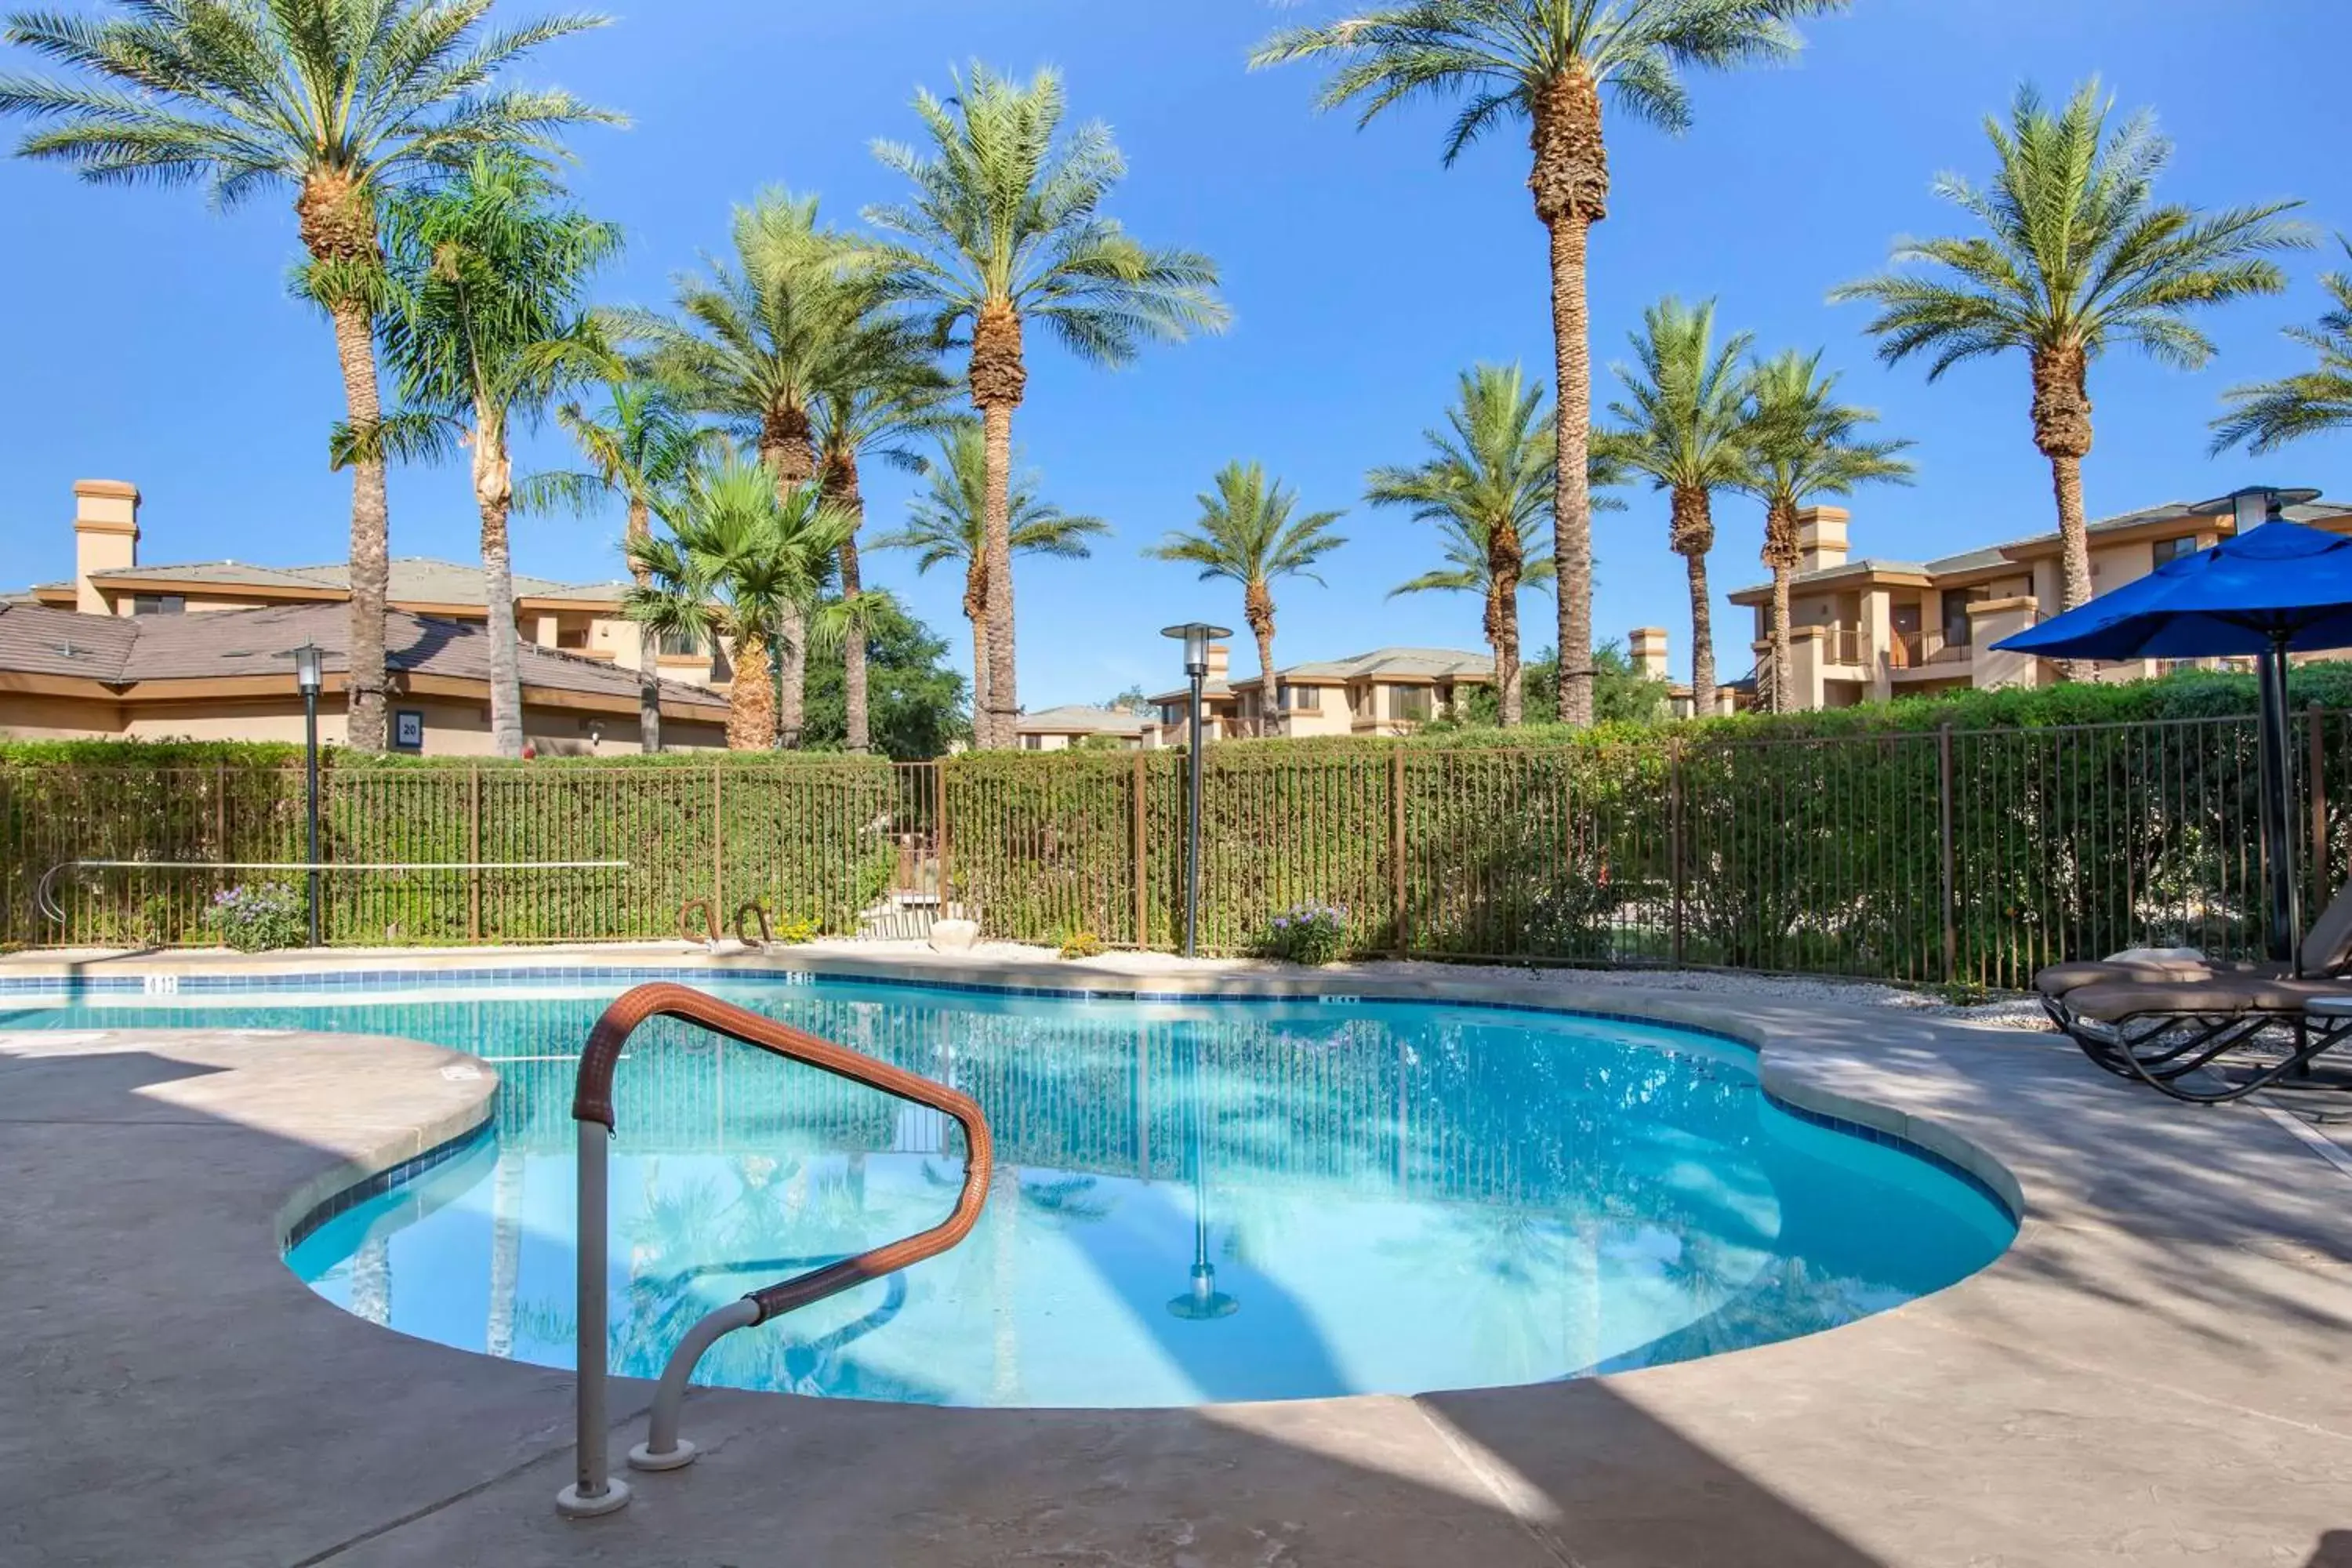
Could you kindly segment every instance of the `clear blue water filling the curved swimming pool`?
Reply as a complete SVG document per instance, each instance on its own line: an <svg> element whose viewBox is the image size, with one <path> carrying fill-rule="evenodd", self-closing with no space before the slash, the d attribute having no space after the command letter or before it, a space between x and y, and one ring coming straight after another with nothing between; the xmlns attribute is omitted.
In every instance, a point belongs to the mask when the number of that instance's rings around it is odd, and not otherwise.
<svg viewBox="0 0 2352 1568"><path fill-rule="evenodd" d="M619 985L0 999L0 1030L402 1034L499 1067L494 1131L287 1262L395 1331L572 1366L569 1095ZM1183 1406L1571 1378L1783 1340L2013 1239L1976 1182L1762 1095L1696 1032L1435 1004L1136 1004L821 980L717 994L971 1093L957 1251L736 1333L703 1382L960 1406ZM642 1030L619 1072L612 1366L710 1307L936 1222L955 1126ZM1195 1262L1232 1312L1181 1316Z"/></svg>

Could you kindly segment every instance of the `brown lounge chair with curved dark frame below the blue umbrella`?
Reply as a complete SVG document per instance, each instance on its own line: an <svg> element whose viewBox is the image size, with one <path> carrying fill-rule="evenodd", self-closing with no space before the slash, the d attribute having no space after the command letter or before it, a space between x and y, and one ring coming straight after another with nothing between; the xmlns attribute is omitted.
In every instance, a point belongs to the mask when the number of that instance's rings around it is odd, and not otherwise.
<svg viewBox="0 0 2352 1568"><path fill-rule="evenodd" d="M2352 1018L2307 1013L2321 997L2352 994L2352 884L2303 938L2303 976L2274 964L2216 964L2194 954L2140 952L2103 964L2058 964L2034 976L2042 1006L2117 1077L2140 1079L2176 1100L2220 1105L2281 1079L2352 1034ZM2220 1086L2187 1079L2230 1051L2267 1039L2272 1060Z"/></svg>

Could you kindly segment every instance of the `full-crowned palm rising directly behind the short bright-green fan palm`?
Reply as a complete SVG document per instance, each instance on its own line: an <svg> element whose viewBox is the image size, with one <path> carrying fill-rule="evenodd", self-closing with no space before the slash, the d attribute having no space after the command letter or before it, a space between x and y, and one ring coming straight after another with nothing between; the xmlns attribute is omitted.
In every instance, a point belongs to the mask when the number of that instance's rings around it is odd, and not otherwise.
<svg viewBox="0 0 2352 1568"><path fill-rule="evenodd" d="M818 400L856 383L877 348L901 353L906 327L873 315L870 263L816 221L816 197L764 190L736 207L731 259L675 282L677 315L614 310L614 329L644 350L647 367L682 388L757 449L779 498L816 480ZM783 635L781 724L800 743L807 637Z"/></svg>

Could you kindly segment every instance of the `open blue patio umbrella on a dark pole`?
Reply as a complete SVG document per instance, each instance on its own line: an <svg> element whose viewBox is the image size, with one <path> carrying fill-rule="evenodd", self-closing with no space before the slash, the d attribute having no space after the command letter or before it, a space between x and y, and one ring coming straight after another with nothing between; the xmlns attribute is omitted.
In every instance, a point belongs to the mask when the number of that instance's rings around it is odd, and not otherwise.
<svg viewBox="0 0 2352 1568"><path fill-rule="evenodd" d="M2352 646L2352 538L2284 522L2314 489L2241 489L2201 510L2234 510L2239 531L2211 550L1994 646L2044 658L2232 658L2263 675L2263 846L2270 952L2296 959L2296 835L2288 827L2286 656Z"/></svg>

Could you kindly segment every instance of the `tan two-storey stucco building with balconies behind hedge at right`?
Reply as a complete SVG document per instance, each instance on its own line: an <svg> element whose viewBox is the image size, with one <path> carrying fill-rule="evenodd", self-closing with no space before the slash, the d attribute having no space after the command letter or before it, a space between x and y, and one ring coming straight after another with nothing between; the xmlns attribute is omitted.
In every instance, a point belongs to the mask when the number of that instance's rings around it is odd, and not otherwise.
<svg viewBox="0 0 2352 1568"><path fill-rule="evenodd" d="M2352 534L2352 508L2286 508L2291 522ZM1931 562L1853 557L1849 512L1820 505L1799 515L1802 562L1790 592L1790 670L1797 708L1851 708L1966 686L2042 686L2049 661L1992 644L2063 609L2056 534L1964 550ZM2237 531L2227 510L2169 503L2091 524L2091 590L2112 592L2180 555ZM1740 588L1733 604L1755 616L1757 682L1771 670L1771 585ZM2100 668L2100 679L2161 675L2159 661Z"/></svg>

